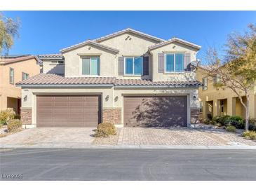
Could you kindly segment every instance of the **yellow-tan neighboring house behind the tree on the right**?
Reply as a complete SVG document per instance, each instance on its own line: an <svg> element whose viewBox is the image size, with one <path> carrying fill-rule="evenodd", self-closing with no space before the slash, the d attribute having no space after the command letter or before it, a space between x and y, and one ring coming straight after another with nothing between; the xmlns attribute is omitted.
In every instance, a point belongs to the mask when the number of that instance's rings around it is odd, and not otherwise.
<svg viewBox="0 0 256 192"><path fill-rule="evenodd" d="M245 108L241 104L238 96L229 88L216 88L214 86L220 78L208 77L205 67L198 67L196 70L196 78L203 83L203 87L199 88L200 112L201 118L210 118L213 116L241 116L245 118ZM216 82L215 82L216 81ZM250 92L250 109L249 116L256 118L256 86ZM246 97L243 96L246 102Z"/></svg>

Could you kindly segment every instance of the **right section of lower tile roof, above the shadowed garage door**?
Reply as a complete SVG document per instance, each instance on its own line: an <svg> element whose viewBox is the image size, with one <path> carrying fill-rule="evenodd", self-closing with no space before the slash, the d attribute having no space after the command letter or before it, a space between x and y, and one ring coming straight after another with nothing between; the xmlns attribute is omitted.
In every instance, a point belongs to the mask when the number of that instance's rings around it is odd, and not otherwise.
<svg viewBox="0 0 256 192"><path fill-rule="evenodd" d="M199 81L151 81L145 79L116 79L115 85L149 85L149 86L199 86Z"/></svg>

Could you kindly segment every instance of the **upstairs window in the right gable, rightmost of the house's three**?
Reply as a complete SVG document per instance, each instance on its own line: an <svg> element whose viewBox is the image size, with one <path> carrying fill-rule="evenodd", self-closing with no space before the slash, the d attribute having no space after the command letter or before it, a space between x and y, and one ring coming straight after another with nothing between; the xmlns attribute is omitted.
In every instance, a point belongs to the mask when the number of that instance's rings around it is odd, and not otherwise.
<svg viewBox="0 0 256 192"><path fill-rule="evenodd" d="M166 53L166 73L184 71L184 53Z"/></svg>

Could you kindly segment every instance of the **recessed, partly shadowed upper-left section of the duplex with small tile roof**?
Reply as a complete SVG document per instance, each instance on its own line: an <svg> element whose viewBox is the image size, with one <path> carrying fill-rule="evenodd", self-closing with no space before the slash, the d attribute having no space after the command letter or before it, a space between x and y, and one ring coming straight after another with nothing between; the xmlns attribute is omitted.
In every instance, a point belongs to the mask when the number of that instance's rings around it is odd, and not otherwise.
<svg viewBox="0 0 256 192"><path fill-rule="evenodd" d="M43 74L65 74L65 60L62 54L38 55L42 61Z"/></svg>

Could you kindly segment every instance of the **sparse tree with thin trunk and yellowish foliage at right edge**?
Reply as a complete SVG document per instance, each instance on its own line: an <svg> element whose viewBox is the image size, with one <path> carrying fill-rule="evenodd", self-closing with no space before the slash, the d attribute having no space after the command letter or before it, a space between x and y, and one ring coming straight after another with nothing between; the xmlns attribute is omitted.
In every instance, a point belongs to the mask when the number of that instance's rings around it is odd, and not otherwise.
<svg viewBox="0 0 256 192"><path fill-rule="evenodd" d="M215 87L236 93L245 108L245 130L249 127L249 93L256 85L256 26L250 24L248 28L245 34L229 35L223 62L215 48L206 51L206 74L213 78Z"/></svg>

